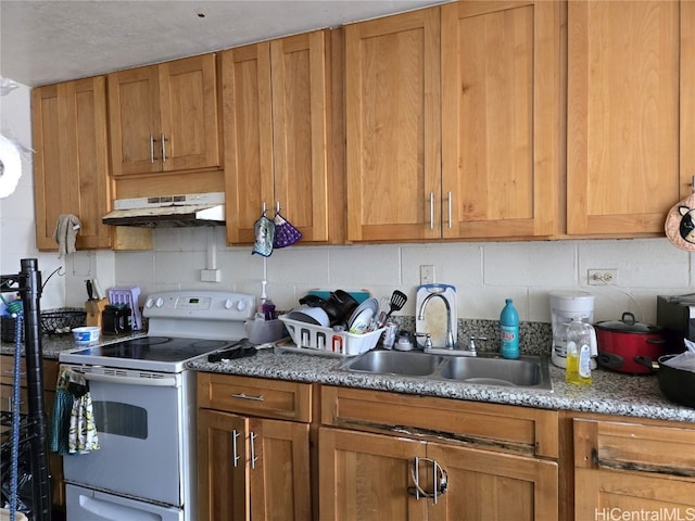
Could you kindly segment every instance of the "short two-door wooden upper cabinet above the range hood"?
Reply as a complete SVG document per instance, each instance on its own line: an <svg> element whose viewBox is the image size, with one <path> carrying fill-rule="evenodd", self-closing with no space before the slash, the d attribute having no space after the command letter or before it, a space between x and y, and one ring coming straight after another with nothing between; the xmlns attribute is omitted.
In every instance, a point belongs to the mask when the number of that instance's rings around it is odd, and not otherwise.
<svg viewBox="0 0 695 521"><path fill-rule="evenodd" d="M219 166L215 54L109 75L114 176Z"/></svg>

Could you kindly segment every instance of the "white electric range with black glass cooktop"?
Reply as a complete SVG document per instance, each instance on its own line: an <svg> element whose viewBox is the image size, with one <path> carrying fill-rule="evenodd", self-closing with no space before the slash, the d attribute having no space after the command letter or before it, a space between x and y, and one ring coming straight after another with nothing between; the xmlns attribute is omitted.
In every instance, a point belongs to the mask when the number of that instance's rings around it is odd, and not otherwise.
<svg viewBox="0 0 695 521"><path fill-rule="evenodd" d="M147 336L60 354L89 383L100 443L63 458L71 521L197 519L195 374L186 366L252 354L244 322L255 309L243 293L155 293L144 303Z"/></svg>

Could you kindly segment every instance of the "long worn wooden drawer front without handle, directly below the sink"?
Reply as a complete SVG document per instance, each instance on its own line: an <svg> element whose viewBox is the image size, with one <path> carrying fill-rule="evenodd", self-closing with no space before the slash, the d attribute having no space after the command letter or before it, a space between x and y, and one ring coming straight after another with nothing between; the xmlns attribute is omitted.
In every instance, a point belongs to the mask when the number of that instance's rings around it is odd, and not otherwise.
<svg viewBox="0 0 695 521"><path fill-rule="evenodd" d="M448 437L549 458L559 454L554 410L324 386L321 423Z"/></svg>

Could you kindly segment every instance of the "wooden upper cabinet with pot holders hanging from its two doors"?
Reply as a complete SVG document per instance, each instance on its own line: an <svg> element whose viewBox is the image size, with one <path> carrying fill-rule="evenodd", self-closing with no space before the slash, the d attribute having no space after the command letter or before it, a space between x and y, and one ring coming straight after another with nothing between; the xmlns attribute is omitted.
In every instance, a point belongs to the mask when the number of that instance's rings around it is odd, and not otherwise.
<svg viewBox="0 0 695 521"><path fill-rule="evenodd" d="M328 46L318 30L222 55L230 244L278 204L302 241L328 240Z"/></svg>

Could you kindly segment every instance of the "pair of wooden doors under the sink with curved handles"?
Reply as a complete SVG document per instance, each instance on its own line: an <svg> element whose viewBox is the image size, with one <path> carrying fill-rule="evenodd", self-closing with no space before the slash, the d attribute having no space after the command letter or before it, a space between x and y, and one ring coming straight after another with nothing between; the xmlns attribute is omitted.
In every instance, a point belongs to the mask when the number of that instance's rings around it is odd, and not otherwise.
<svg viewBox="0 0 695 521"><path fill-rule="evenodd" d="M416 480L425 493L420 497ZM323 428L319 483L321 520L521 521L558 516L556 462L415 439ZM329 485L332 490L326 490Z"/></svg>

